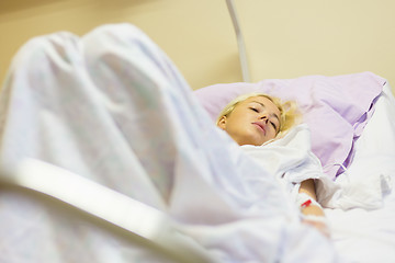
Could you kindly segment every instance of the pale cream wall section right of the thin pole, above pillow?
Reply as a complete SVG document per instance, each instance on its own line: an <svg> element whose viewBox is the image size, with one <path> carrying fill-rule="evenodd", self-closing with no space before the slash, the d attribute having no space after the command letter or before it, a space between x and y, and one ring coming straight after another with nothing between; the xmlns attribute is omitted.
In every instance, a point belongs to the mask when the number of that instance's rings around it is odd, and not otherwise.
<svg viewBox="0 0 395 263"><path fill-rule="evenodd" d="M395 88L395 1L238 0L252 80L372 71Z"/></svg>

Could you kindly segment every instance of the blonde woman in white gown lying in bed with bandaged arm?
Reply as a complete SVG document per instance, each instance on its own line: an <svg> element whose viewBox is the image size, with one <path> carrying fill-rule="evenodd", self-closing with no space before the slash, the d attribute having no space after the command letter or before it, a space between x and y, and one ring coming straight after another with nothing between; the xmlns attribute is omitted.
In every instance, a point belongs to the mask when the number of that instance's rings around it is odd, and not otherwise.
<svg viewBox="0 0 395 263"><path fill-rule="evenodd" d="M253 159L266 165L268 172L285 179L285 187L290 192L297 192L294 198L304 215L303 221L328 236L325 214L317 203L315 187L315 179L323 174L320 163L311 152L309 144L305 144L305 138L309 136L308 128L298 125L300 119L301 114L294 102L282 102L262 93L249 93L226 105L216 124ZM294 165L290 165L290 160ZM284 163L287 163L286 168ZM302 167L306 169L306 176L293 176L292 171L301 171Z"/></svg>

